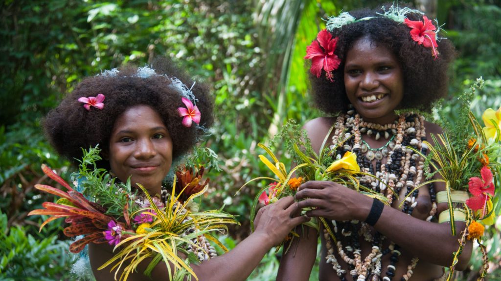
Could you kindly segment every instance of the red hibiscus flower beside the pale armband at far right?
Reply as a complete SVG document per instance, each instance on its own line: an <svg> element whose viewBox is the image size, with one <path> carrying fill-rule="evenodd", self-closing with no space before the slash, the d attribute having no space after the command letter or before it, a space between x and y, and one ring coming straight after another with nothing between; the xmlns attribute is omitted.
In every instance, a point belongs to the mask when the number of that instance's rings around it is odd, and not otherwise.
<svg viewBox="0 0 501 281"><path fill-rule="evenodd" d="M489 195L494 195L494 183L492 182L492 171L487 166L480 169L482 178L470 177L468 187L473 197L466 200L466 205L472 210L482 209L482 216L485 215L485 206Z"/></svg>

